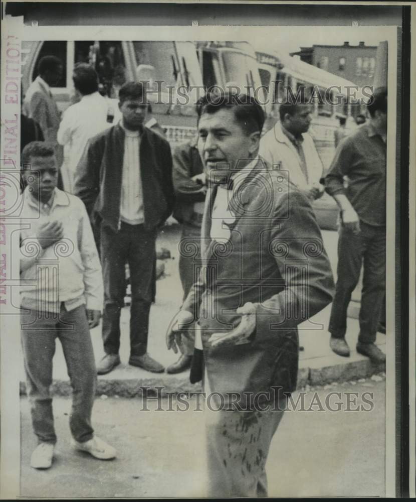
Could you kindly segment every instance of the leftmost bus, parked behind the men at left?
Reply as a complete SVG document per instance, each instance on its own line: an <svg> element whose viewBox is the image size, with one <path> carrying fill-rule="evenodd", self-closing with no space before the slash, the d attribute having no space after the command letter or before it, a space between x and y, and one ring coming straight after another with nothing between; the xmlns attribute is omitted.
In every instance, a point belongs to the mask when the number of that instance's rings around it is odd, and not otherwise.
<svg viewBox="0 0 416 502"><path fill-rule="evenodd" d="M64 111L75 102L72 72L76 63L92 64L99 76L100 92L117 110L118 90L128 81L147 81L152 116L165 130L167 140L181 143L193 137L196 112L191 98L176 103L176 90L202 86L193 42L172 41L39 41L22 43L22 90L37 76L39 60L46 55L63 62L60 82L51 89Z"/></svg>

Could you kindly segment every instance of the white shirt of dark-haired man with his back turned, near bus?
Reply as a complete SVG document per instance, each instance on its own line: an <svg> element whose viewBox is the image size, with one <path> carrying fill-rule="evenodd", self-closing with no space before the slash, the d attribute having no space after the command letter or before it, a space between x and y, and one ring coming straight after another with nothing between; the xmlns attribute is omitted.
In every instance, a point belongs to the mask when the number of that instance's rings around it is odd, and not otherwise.
<svg viewBox="0 0 416 502"><path fill-rule="evenodd" d="M64 145L61 173L66 192L74 192L76 169L88 140L112 126L107 122L109 108L108 100L99 92L93 92L65 110L58 130L58 143Z"/></svg>

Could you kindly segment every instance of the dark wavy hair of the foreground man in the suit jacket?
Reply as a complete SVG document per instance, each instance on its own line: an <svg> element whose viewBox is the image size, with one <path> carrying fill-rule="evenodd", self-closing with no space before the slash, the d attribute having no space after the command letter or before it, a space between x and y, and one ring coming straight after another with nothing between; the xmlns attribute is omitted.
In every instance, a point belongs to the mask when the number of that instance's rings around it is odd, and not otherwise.
<svg viewBox="0 0 416 502"><path fill-rule="evenodd" d="M231 91L207 92L196 104L198 120L204 113L216 113L222 108L232 109L236 120L247 135L261 131L265 121L263 108L253 96Z"/></svg>

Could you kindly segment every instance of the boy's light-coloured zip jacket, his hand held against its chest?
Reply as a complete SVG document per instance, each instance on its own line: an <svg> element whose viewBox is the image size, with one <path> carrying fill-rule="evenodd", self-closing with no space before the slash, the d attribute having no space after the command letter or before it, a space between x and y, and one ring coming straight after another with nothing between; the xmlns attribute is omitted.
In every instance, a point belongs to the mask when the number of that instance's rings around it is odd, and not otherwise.
<svg viewBox="0 0 416 502"><path fill-rule="evenodd" d="M55 188L49 204L42 204L29 192L23 194L20 234L20 294L24 308L59 312L86 304L101 310L103 280L100 260L82 201ZM58 220L64 236L42 248L37 232L41 224Z"/></svg>

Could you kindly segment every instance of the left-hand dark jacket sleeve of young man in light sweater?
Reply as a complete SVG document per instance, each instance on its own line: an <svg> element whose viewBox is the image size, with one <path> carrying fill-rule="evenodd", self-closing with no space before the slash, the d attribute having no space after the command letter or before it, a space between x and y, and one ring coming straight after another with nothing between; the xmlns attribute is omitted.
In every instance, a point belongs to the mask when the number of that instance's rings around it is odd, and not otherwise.
<svg viewBox="0 0 416 502"><path fill-rule="evenodd" d="M84 202L90 217L100 191L100 166L104 152L102 144L101 136L89 141L75 174L74 195Z"/></svg>

